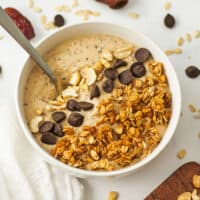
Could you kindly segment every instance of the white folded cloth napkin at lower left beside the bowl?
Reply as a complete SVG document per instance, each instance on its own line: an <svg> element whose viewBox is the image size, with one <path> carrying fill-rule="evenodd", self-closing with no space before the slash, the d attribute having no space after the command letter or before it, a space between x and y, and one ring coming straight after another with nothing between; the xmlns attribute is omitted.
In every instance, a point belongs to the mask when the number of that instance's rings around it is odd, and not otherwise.
<svg viewBox="0 0 200 200"><path fill-rule="evenodd" d="M14 113L0 104L0 199L83 200L83 186L42 159L18 127Z"/></svg>

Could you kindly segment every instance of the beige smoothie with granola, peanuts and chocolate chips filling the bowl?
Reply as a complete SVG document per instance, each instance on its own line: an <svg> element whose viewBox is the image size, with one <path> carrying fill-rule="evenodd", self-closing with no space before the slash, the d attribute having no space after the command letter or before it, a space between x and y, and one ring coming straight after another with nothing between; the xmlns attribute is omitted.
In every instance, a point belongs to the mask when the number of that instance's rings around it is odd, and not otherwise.
<svg viewBox="0 0 200 200"><path fill-rule="evenodd" d="M116 36L81 36L45 59L57 67L65 89L49 100L52 86L35 68L25 111L37 141L55 158L81 169L111 171L157 147L170 121L172 97L163 63L147 48Z"/></svg>

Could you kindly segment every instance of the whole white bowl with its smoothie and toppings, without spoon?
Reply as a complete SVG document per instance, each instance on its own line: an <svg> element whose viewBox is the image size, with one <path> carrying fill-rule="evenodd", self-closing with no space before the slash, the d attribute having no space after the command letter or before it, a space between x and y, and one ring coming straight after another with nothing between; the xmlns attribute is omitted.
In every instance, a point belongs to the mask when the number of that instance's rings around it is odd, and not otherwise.
<svg viewBox="0 0 200 200"><path fill-rule="evenodd" d="M79 176L115 176L153 160L172 138L179 82L165 54L134 30L108 23L69 26L38 51L63 90L29 58L17 85L23 132L51 164Z"/></svg>

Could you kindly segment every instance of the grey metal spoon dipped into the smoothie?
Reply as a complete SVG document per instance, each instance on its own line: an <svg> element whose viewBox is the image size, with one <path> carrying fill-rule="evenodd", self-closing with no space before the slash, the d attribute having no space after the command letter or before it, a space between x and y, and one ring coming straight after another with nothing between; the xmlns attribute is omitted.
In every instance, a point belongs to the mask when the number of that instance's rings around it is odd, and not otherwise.
<svg viewBox="0 0 200 200"><path fill-rule="evenodd" d="M31 43L26 39L23 33L18 29L15 23L10 19L7 13L0 6L0 25L20 44L24 50L32 57L44 73L50 78L55 85L56 96L59 94L61 88L60 81L57 80L48 64L44 61L42 56L36 51Z"/></svg>

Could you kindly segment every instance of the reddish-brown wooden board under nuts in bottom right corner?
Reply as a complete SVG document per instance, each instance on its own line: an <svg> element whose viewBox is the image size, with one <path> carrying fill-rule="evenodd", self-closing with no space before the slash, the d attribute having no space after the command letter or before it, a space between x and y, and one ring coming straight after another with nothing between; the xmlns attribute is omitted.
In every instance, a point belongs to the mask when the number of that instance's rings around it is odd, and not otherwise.
<svg viewBox="0 0 200 200"><path fill-rule="evenodd" d="M195 174L200 175L200 165L198 163L189 162L182 165L145 200L177 200L179 194L193 191L192 178Z"/></svg>

